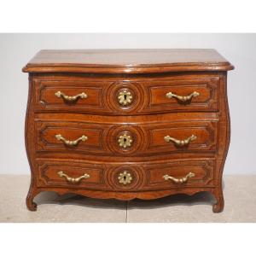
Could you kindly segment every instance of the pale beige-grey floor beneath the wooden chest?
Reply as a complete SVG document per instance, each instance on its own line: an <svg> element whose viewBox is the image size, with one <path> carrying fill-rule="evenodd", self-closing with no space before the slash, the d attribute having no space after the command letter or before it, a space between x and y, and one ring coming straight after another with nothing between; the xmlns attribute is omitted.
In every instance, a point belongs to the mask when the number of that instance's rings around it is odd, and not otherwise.
<svg viewBox="0 0 256 256"><path fill-rule="evenodd" d="M212 195L172 195L154 201L96 200L43 192L38 211L26 210L30 177L0 175L0 222L256 222L256 176L224 177L224 212Z"/></svg>

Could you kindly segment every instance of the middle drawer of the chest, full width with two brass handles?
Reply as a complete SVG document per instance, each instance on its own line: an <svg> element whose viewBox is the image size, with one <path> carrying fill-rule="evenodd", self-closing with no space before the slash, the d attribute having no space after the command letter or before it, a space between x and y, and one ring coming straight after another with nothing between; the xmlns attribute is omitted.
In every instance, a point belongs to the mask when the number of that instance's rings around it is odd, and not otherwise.
<svg viewBox="0 0 256 256"><path fill-rule="evenodd" d="M37 152L149 155L217 150L218 121L168 121L121 125L36 121Z"/></svg>

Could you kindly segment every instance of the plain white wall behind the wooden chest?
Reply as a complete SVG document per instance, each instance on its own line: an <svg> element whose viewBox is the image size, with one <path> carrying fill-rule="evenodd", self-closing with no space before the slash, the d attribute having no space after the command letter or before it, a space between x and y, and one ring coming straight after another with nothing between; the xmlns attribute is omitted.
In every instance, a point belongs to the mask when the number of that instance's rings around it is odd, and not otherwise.
<svg viewBox="0 0 256 256"><path fill-rule="evenodd" d="M27 74L39 49L214 48L229 73L230 152L225 174L256 174L256 34L0 34L0 173L30 173L24 143Z"/></svg>

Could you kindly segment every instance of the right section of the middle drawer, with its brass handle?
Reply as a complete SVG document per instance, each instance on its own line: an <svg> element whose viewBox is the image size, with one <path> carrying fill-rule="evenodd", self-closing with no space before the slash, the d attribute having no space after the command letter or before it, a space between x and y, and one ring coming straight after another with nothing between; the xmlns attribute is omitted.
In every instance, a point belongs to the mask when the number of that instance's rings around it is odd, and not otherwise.
<svg viewBox="0 0 256 256"><path fill-rule="evenodd" d="M167 124L145 125L147 153L185 153L216 151L217 121L178 121Z"/></svg>

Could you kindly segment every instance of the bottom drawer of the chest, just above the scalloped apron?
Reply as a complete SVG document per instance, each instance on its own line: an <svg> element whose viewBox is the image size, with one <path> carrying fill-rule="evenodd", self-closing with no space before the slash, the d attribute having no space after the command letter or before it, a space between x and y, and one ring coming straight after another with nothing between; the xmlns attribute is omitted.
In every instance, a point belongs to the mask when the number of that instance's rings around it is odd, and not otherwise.
<svg viewBox="0 0 256 256"><path fill-rule="evenodd" d="M38 160L38 187L148 191L214 185L214 159L139 163Z"/></svg>

